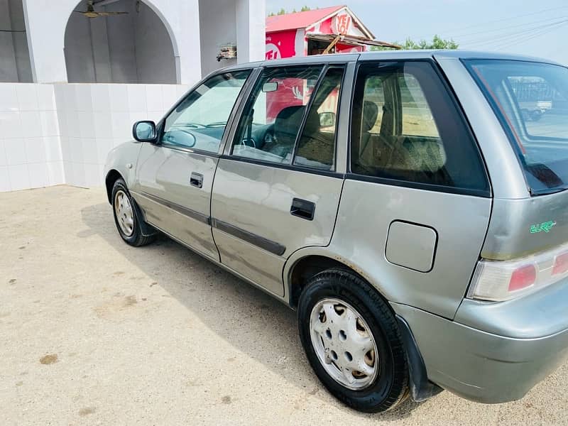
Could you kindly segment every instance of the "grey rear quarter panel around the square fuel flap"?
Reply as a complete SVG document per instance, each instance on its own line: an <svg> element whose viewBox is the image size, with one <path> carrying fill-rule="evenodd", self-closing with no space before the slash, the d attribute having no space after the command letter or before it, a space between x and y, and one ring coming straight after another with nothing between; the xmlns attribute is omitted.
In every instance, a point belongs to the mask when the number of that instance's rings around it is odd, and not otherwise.
<svg viewBox="0 0 568 426"><path fill-rule="evenodd" d="M491 199L346 180L329 252L348 259L387 300L453 318L483 245ZM361 224L361 219L364 223ZM388 227L395 220L437 231L428 273L387 261ZM408 250L413 240L400 242ZM459 252L459 256L456 253Z"/></svg>

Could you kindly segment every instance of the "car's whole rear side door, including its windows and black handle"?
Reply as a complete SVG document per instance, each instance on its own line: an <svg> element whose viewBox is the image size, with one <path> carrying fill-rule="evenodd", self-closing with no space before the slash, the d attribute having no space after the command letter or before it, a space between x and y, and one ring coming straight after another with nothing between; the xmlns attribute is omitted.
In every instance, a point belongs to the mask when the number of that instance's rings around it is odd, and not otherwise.
<svg viewBox="0 0 568 426"><path fill-rule="evenodd" d="M212 231L221 261L278 296L290 253L332 236L345 74L344 64L266 67L219 160Z"/></svg>

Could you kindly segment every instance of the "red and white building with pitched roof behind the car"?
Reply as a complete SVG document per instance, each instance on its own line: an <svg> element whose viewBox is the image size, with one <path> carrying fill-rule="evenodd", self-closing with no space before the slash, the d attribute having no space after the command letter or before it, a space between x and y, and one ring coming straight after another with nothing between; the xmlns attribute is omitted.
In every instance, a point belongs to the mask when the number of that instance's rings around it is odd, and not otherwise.
<svg viewBox="0 0 568 426"><path fill-rule="evenodd" d="M370 45L398 48L375 36L347 6L266 18L266 59L362 52Z"/></svg>

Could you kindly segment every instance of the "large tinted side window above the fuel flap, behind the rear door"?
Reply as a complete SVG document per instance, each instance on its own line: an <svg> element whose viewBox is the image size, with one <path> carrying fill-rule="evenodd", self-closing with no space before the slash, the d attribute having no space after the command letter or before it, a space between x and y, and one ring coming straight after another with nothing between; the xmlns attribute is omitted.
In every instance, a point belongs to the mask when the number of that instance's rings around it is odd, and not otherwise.
<svg viewBox="0 0 568 426"><path fill-rule="evenodd" d="M353 102L352 172L488 190L471 133L429 62L361 65Z"/></svg>

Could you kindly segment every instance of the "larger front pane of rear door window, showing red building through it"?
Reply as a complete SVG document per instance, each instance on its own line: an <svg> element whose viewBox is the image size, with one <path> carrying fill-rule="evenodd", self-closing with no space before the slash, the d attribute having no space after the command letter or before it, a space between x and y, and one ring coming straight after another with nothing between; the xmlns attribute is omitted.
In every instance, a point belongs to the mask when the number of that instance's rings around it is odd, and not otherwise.
<svg viewBox="0 0 568 426"><path fill-rule="evenodd" d="M290 164L321 66L263 71L241 116L232 155Z"/></svg>

